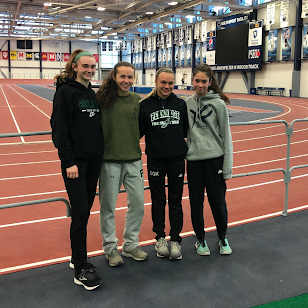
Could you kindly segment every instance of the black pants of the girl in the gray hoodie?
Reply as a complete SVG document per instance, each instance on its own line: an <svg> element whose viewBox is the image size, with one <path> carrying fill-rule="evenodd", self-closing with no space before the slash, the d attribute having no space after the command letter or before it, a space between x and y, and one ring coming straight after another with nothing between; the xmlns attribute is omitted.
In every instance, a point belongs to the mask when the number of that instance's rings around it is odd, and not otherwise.
<svg viewBox="0 0 308 308"><path fill-rule="evenodd" d="M204 188L206 188L218 237L224 239L227 233L226 183L222 174L222 164L223 157L187 161L191 220L198 239L204 239L205 236L203 218Z"/></svg>

